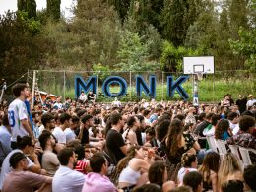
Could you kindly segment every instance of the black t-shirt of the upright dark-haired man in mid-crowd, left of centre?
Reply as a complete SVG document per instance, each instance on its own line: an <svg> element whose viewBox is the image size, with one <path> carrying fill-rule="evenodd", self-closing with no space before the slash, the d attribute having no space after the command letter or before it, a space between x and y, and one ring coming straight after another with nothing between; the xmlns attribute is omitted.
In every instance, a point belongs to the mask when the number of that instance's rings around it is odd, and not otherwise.
<svg viewBox="0 0 256 192"><path fill-rule="evenodd" d="M122 151L120 150L120 147L123 147L124 145L125 143L120 133L118 133L114 129L110 129L107 132L106 147L108 151L110 151L113 154L113 156L116 159L116 162L118 162L119 160L125 157L125 154L123 154Z"/></svg>

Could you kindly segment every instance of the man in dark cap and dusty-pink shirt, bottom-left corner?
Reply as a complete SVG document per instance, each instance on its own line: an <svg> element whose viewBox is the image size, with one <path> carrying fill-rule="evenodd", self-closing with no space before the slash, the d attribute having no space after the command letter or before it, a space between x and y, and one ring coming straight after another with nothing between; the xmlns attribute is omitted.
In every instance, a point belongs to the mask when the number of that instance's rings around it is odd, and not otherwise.
<svg viewBox="0 0 256 192"><path fill-rule="evenodd" d="M16 152L10 157L13 170L6 176L2 192L29 192L34 188L39 188L38 192L41 192L51 189L52 178L25 171L28 169L28 164L29 160L21 152Z"/></svg>

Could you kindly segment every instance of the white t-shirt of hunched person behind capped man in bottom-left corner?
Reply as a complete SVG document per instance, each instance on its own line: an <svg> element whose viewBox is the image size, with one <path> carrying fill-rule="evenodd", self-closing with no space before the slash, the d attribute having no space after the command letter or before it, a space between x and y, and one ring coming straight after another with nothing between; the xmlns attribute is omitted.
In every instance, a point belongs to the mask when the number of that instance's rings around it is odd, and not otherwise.
<svg viewBox="0 0 256 192"><path fill-rule="evenodd" d="M10 152L7 155L7 157L3 161L2 169L1 169L1 174L0 174L0 190L2 190L3 183L4 183L4 180L5 180L6 176L7 176L7 174L9 172L11 172L11 170L12 170L9 160L10 160L11 156L13 156L13 154L16 153L16 152L23 153L23 151L19 150L19 149L13 150L12 152ZM28 168L30 168L34 163L28 157L27 157L27 159L29 160Z"/></svg>

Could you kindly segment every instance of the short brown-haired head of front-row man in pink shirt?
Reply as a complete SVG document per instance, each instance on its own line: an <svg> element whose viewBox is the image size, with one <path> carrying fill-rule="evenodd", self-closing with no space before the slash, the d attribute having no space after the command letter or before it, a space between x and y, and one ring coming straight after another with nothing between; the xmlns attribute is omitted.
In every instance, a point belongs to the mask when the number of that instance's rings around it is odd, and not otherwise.
<svg viewBox="0 0 256 192"><path fill-rule="evenodd" d="M104 175L107 173L107 160L102 153L96 153L91 157L90 167L93 172L102 173Z"/></svg>

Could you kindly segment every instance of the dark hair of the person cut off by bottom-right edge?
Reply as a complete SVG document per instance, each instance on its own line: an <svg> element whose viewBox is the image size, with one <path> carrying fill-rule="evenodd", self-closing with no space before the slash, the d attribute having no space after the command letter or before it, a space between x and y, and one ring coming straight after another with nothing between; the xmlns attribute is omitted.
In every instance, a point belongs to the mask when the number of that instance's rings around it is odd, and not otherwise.
<svg viewBox="0 0 256 192"><path fill-rule="evenodd" d="M249 165L244 168L243 177L246 184L250 187L251 190L256 190L256 164Z"/></svg>

